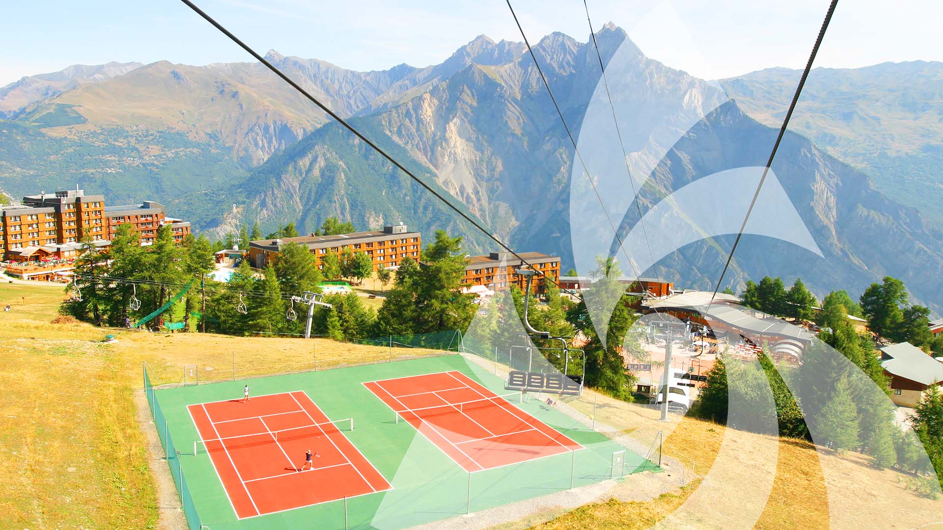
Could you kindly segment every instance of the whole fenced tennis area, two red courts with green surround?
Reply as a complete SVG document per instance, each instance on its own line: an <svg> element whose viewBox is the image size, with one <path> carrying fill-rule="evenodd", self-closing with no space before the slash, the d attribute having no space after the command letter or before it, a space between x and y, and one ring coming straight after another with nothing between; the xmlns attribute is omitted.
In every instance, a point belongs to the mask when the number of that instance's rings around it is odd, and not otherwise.
<svg viewBox="0 0 943 530"><path fill-rule="evenodd" d="M191 530L395 530L656 469L457 355L145 389Z"/></svg>

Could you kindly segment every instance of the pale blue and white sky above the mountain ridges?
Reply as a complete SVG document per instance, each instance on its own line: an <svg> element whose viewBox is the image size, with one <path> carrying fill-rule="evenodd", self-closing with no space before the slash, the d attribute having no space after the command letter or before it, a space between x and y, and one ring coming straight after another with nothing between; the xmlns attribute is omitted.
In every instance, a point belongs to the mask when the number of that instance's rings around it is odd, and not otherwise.
<svg viewBox="0 0 943 530"><path fill-rule="evenodd" d="M195 0L260 53L319 58L352 70L438 64L486 34L521 41L503 0ZM531 43L554 31L588 40L580 0L512 0ZM802 68L825 0L587 0L596 30L620 25L642 51L704 79L764 68ZM249 60L244 51L177 0L8 3L0 32L0 86L71 64ZM24 21L17 24L17 21ZM885 61L943 60L943 2L843 0L816 66L856 68Z"/></svg>

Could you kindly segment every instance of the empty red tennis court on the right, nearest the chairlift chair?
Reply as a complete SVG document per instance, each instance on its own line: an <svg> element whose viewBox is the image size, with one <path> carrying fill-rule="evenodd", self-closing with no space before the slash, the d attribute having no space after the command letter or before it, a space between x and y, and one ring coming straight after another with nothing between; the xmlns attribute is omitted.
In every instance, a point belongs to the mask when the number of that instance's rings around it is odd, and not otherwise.
<svg viewBox="0 0 943 530"><path fill-rule="evenodd" d="M364 386L467 472L583 449L460 372Z"/></svg>

